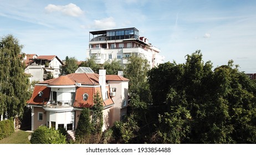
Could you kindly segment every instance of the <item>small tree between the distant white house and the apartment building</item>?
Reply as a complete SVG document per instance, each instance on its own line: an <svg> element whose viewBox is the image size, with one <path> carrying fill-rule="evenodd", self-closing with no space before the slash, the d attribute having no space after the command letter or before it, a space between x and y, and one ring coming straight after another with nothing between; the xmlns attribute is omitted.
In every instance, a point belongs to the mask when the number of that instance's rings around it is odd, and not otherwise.
<svg viewBox="0 0 256 155"><path fill-rule="evenodd" d="M62 66L62 73L63 74L71 74L75 73L76 69L78 69L78 60L75 59L75 57L69 58L66 56L65 60L65 65Z"/></svg>

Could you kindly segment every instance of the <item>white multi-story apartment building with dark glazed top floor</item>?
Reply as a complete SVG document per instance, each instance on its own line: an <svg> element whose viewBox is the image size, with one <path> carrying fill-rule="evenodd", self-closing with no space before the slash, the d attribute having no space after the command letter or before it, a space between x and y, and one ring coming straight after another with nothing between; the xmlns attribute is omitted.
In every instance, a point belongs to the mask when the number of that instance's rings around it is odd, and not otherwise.
<svg viewBox="0 0 256 155"><path fill-rule="evenodd" d="M87 55L95 56L96 63L103 64L107 60L117 59L121 64L127 64L127 58L133 54L147 59L151 68L165 60L158 48L151 45L147 38L140 37L136 28L89 32Z"/></svg>

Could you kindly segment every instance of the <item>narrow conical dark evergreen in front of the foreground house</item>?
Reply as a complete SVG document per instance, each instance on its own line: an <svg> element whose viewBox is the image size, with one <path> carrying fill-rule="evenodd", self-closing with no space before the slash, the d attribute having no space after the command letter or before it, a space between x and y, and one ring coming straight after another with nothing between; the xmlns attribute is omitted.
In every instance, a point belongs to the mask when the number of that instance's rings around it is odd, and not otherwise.
<svg viewBox="0 0 256 155"><path fill-rule="evenodd" d="M76 143L90 143L91 128L89 109L83 108L79 116L78 126L75 130Z"/></svg>

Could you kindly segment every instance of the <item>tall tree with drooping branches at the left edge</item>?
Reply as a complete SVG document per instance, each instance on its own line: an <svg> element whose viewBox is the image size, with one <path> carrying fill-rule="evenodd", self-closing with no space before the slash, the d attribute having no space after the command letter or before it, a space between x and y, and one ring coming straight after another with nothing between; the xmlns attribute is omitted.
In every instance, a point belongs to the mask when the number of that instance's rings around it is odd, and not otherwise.
<svg viewBox="0 0 256 155"><path fill-rule="evenodd" d="M22 45L13 35L0 39L0 115L23 115L29 97L29 79L24 73Z"/></svg>

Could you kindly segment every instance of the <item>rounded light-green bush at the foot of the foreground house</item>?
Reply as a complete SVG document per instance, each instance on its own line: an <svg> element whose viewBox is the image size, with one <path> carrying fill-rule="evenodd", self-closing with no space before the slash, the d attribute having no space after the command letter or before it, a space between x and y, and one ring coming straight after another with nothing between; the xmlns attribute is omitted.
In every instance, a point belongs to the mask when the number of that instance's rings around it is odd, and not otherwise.
<svg viewBox="0 0 256 155"><path fill-rule="evenodd" d="M32 144L65 144L66 137L59 132L46 126L39 126L30 139Z"/></svg>

